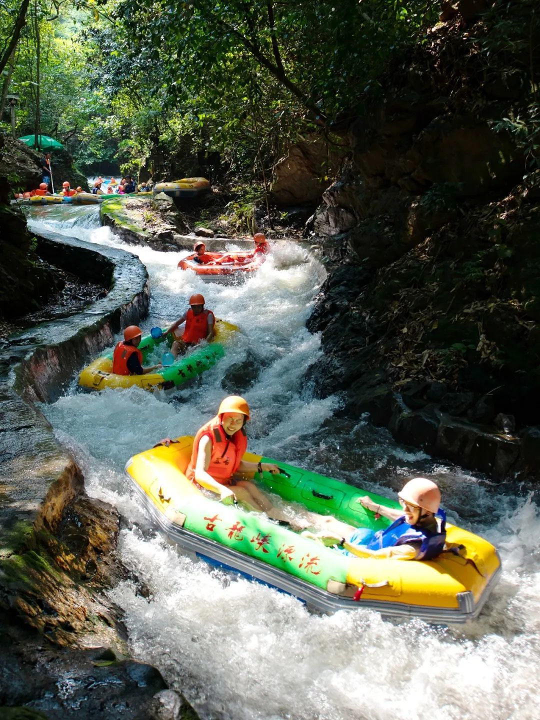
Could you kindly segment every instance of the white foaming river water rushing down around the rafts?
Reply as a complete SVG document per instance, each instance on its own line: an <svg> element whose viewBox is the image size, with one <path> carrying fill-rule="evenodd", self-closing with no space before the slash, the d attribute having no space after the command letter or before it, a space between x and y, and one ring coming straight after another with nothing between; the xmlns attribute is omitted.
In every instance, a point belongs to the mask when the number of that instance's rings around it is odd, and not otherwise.
<svg viewBox="0 0 540 720"><path fill-rule="evenodd" d="M333 418L340 398L318 400L304 382L320 354L305 329L325 271L294 243L274 250L245 283L204 283L176 270L185 253L125 246L99 227L96 207L31 210L44 225L136 252L150 274L143 328L179 317L202 292L217 317L243 330L225 359L172 396L132 388L70 390L42 410L84 469L89 495L124 518L122 562L138 580L110 595L125 613L135 657L156 665L203 719L533 719L540 693L540 518L526 488L480 476L395 444L367 418ZM260 369L242 392L255 452L392 497L412 474L441 485L449 519L498 546L503 574L474 623L454 628L390 622L378 613L315 616L287 595L192 562L156 534L123 474L129 456L163 436L193 434L225 392L231 364Z"/></svg>

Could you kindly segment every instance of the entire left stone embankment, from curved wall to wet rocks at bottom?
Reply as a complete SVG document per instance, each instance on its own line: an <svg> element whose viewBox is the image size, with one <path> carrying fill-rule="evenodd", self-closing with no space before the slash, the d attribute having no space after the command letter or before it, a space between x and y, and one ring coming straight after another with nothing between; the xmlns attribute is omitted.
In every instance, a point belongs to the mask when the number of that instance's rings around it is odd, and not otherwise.
<svg viewBox="0 0 540 720"><path fill-rule="evenodd" d="M86 496L80 469L32 405L58 397L115 332L144 317L148 275L130 253L54 233L38 238L36 251L108 292L1 351L0 715L196 718L158 670L129 657L104 593L125 577L116 557L120 518Z"/></svg>

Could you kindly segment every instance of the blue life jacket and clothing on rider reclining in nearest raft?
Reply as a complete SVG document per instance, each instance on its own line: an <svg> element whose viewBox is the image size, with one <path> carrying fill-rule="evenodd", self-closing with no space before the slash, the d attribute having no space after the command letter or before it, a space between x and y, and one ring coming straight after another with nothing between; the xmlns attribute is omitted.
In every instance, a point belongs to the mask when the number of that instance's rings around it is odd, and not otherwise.
<svg viewBox="0 0 540 720"><path fill-rule="evenodd" d="M415 560L433 560L443 552L446 541L446 513L444 510L439 509L435 519L437 530L432 531L421 525L409 525L405 522L405 516L402 515L392 525L375 533L359 528L351 535L348 542L353 545L364 545L368 550L382 550L385 547L420 542L420 549Z"/></svg>

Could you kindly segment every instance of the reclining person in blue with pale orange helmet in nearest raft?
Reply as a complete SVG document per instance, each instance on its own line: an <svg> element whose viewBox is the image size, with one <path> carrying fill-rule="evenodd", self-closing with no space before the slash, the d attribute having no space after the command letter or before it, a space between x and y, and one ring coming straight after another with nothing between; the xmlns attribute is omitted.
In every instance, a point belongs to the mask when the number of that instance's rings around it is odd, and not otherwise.
<svg viewBox="0 0 540 720"><path fill-rule="evenodd" d="M432 480L414 477L405 483L397 496L402 510L378 505L367 495L358 500L376 516L382 515L393 521L384 530L355 529L328 518L328 523L333 524L330 534L305 532L304 535L325 545L341 546L346 554L359 557L432 560L444 550L446 541L446 513L440 507L441 491Z"/></svg>

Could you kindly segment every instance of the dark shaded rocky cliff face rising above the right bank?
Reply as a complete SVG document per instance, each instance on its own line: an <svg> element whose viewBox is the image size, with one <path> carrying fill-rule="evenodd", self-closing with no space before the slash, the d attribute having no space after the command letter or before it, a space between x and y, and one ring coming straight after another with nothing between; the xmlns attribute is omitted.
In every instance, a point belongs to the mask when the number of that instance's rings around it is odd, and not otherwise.
<svg viewBox="0 0 540 720"><path fill-rule="evenodd" d="M348 171L314 225L330 269L309 321L325 348L310 370L318 392L343 390L343 413L367 410L403 441L495 477L536 473L521 456L540 401L530 10L495 4L467 27L438 24L390 68L348 130ZM452 440L448 418L459 418ZM495 441L474 456L482 433L508 440L504 461Z"/></svg>

